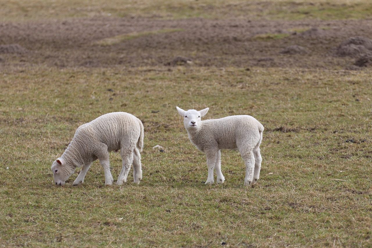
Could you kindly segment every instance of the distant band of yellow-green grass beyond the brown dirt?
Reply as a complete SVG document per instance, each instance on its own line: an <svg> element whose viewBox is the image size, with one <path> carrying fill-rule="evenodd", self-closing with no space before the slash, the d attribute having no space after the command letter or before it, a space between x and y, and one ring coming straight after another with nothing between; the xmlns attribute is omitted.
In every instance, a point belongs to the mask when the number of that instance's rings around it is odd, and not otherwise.
<svg viewBox="0 0 372 248"><path fill-rule="evenodd" d="M155 19L368 19L372 3L366 0L10 0L0 3L0 21L86 18L93 16Z"/></svg>

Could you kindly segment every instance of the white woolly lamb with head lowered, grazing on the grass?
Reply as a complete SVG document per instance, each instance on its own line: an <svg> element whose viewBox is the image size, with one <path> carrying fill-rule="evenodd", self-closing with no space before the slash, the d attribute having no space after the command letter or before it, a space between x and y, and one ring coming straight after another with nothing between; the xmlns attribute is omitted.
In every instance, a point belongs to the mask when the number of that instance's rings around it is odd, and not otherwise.
<svg viewBox="0 0 372 248"><path fill-rule="evenodd" d="M119 149L123 165L116 184L126 182L132 162L134 182L139 184L142 179L142 146L143 125L140 119L125 112L102 115L78 127L61 158L53 162L51 169L55 184L64 185L75 169L81 166L73 185L83 183L91 163L99 159L105 172L105 185L112 185L109 151Z"/></svg>

